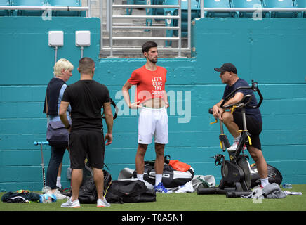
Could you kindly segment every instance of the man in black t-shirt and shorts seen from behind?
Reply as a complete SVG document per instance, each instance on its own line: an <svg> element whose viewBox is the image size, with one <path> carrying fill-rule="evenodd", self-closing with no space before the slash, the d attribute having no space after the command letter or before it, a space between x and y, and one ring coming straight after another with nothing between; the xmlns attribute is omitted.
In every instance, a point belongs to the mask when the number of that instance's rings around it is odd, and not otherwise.
<svg viewBox="0 0 306 225"><path fill-rule="evenodd" d="M69 153L72 168L72 197L61 207L81 207L79 204L79 187L81 185L84 161L93 168L93 179L97 188L97 207L109 207L103 197L103 165L105 146L112 143L113 115L109 91L103 84L93 80L95 63L91 58L81 58L79 68L81 79L67 86L60 104L60 120L69 130ZM71 105L72 125L67 120L67 107ZM101 108L105 113L107 133L103 138Z"/></svg>

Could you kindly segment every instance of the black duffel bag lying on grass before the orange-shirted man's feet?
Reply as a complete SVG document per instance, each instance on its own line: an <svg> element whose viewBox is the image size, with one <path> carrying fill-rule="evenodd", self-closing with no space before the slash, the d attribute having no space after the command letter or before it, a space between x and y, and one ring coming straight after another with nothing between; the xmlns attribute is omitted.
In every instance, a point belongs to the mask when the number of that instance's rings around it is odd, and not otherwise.
<svg viewBox="0 0 306 225"><path fill-rule="evenodd" d="M155 202L156 193L147 189L142 181L112 181L106 196L108 203L142 203Z"/></svg>

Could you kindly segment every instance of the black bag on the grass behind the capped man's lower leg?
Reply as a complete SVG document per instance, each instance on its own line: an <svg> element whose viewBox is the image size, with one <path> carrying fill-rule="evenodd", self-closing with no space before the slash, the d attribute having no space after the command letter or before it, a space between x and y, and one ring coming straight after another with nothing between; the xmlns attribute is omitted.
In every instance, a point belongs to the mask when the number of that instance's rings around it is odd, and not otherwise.
<svg viewBox="0 0 306 225"><path fill-rule="evenodd" d="M267 165L267 170L269 183L281 184L281 181L283 181L283 176L281 176L281 172L279 172L277 168L272 167L272 165ZM255 165L251 165L251 188L260 184L260 176L258 174L257 167Z"/></svg>

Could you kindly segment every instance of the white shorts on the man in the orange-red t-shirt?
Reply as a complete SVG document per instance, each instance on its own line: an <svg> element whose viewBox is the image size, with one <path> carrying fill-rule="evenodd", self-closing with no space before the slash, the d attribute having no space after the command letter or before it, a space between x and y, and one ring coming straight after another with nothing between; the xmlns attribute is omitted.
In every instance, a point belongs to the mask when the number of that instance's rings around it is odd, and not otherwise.
<svg viewBox="0 0 306 225"><path fill-rule="evenodd" d="M138 117L138 143L168 143L168 114L166 108L141 108Z"/></svg>

